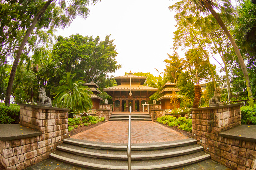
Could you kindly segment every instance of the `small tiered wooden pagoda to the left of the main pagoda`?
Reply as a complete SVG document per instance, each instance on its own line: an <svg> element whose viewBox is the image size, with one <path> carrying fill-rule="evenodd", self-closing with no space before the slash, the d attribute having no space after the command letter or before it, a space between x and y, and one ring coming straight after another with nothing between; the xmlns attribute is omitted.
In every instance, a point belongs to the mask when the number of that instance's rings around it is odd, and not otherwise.
<svg viewBox="0 0 256 170"><path fill-rule="evenodd" d="M87 86L93 92L93 94L91 94L91 99L92 99L92 102L93 102L93 108L92 109L99 109L100 108L100 101L103 101L103 99L101 97L97 96L97 94L101 94L101 91L99 91L97 89L99 87L98 84L91 81L90 83L86 83L84 85Z"/></svg>

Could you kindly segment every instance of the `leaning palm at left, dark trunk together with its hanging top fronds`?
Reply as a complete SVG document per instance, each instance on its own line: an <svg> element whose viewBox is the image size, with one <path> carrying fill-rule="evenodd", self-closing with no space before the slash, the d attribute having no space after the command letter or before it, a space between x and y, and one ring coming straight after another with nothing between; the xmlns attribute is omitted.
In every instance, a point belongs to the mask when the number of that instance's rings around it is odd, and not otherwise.
<svg viewBox="0 0 256 170"><path fill-rule="evenodd" d="M31 23L30 27L27 29L25 36L23 37L23 40L21 42L21 45L17 51L17 54L15 56L12 70L10 72L10 77L7 85L6 90L6 98L5 98L5 105L10 105L10 95L12 92L12 86L13 81L16 73L16 69L21 57L21 54L23 52L23 49L28 41L28 38L32 31L34 30L36 24L40 20L41 16L45 13L47 8L51 5L51 3L55 3L57 0L48 0L46 1L45 5L39 10L37 15L34 17L33 22ZM92 0L93 2L96 2L97 0ZM89 14L89 9L87 8L89 1L86 0L70 0L69 6L67 6L65 1L60 1L58 3L59 7L54 9L54 13L60 13L59 16L56 16L54 20L52 21L52 26L61 26L62 28L65 28L66 26L69 26L70 23L76 18L77 15L86 18Z"/></svg>

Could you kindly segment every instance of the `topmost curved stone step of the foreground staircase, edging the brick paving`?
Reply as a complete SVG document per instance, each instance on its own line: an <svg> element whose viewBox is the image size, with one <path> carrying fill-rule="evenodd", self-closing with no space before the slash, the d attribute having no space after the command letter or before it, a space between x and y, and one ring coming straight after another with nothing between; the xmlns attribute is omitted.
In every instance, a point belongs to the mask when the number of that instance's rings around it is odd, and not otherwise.
<svg viewBox="0 0 256 170"><path fill-rule="evenodd" d="M63 143L71 144L75 146L81 146L86 148L93 149L102 149L102 150L127 150L127 144L121 143L102 143L102 142L92 142L86 140L79 140L73 138L67 138L63 140ZM195 139L183 139L169 142L159 142L159 143L133 143L131 146L131 150L159 150L166 148L174 148L181 146L188 146L196 144L197 140Z"/></svg>

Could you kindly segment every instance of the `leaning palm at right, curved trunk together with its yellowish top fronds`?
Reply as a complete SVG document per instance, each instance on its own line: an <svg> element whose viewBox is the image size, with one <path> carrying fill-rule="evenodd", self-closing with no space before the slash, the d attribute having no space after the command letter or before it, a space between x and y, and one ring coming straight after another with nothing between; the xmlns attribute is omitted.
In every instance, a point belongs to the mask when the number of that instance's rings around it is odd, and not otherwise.
<svg viewBox="0 0 256 170"><path fill-rule="evenodd" d="M174 5L170 6L170 10L175 10L177 12L175 18L176 20L182 20L184 23L189 20L190 17L195 15L197 18L200 18L200 15L211 13L212 16L216 19L219 26L222 28L222 30L225 32L227 37L229 38L232 46L234 47L235 53L238 57L238 60L240 62L243 75L245 78L248 96L249 96L249 103L251 107L254 107L253 103L253 96L250 86L250 80L247 72L247 68L245 66L244 60L242 58L242 55L240 53L240 50L238 49L233 37L231 36L230 32L228 31L226 25L220 18L220 15L214 10L215 9L225 9L227 13L233 13L232 5L228 0L222 0L222 1L215 1L212 0L181 0Z"/></svg>

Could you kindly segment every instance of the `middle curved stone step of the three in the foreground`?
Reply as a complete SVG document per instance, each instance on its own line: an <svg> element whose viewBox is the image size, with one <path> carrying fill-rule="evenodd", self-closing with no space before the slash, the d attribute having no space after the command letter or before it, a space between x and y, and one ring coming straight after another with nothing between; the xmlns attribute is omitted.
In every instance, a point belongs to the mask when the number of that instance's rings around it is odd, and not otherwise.
<svg viewBox="0 0 256 170"><path fill-rule="evenodd" d="M57 146L57 150L67 152L67 153L72 153L75 155L80 155L80 156L88 156L88 157L111 159L111 160L127 160L127 151L98 150L98 149L74 146L70 144L59 145ZM131 160L162 159L162 158L196 153L202 150L203 150L202 146L194 144L189 146L162 149L162 150L132 151Z"/></svg>

